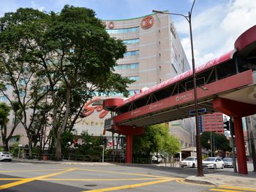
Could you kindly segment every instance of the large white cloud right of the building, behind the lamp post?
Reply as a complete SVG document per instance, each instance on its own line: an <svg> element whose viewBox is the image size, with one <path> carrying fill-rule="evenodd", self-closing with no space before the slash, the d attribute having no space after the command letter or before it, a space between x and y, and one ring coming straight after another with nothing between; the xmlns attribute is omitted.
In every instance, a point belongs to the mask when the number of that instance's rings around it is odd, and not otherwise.
<svg viewBox="0 0 256 192"><path fill-rule="evenodd" d="M255 0L235 0L217 4L192 15L195 64L200 66L233 49L234 42L246 29L256 24ZM191 63L189 25L186 20L175 23L181 43Z"/></svg>

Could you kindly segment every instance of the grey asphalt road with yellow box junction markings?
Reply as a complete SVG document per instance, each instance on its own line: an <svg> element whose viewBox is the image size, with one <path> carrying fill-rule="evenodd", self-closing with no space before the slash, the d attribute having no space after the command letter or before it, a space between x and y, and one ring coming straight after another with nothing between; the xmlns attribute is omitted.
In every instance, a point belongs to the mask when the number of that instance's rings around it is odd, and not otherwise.
<svg viewBox="0 0 256 192"><path fill-rule="evenodd" d="M226 172L230 169L226 169ZM225 169L208 172L223 172ZM0 162L0 191L225 191L187 183L197 169L152 166L25 164Z"/></svg>

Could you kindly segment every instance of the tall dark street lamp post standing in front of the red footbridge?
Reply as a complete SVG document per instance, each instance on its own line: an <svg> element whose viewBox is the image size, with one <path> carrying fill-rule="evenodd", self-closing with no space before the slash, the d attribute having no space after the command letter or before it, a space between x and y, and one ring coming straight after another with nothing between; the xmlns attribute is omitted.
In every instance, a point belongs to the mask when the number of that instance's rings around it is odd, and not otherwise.
<svg viewBox="0 0 256 192"><path fill-rule="evenodd" d="M192 37L192 9L194 7L195 0L193 1L192 7L190 9L189 15L183 15L172 12L162 12L158 10L153 10L152 12L160 13L160 14L168 14L168 15L178 15L184 17L187 22L189 22L189 35L190 35L190 44L191 44L191 53L192 53L192 71L193 71L193 84L194 84L194 97L195 97L195 127L196 127L196 148L197 148L197 176L203 176L203 164L202 164L202 147L201 147L201 137L199 130L199 115L198 115L198 107L197 107L197 82L195 76L195 57L194 57L194 47L193 47L193 37Z"/></svg>

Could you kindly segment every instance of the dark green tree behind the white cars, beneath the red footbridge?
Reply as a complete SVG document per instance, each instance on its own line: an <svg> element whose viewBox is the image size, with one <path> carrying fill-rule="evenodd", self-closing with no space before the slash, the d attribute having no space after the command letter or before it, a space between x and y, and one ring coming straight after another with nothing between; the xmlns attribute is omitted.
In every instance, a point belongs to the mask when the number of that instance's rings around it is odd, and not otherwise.
<svg viewBox="0 0 256 192"><path fill-rule="evenodd" d="M210 141L210 143L208 143ZM222 151L231 151L232 148L230 147L230 142L227 140L225 135L217 134L210 131L205 131L201 135L201 143L206 150L211 150L211 142L212 147L215 150L222 150Z"/></svg>

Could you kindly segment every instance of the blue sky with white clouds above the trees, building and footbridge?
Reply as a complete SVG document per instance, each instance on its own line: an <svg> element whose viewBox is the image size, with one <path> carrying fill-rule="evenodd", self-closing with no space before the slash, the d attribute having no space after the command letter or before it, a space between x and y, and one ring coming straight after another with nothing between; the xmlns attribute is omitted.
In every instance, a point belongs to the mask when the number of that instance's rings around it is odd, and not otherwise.
<svg viewBox="0 0 256 192"><path fill-rule="evenodd" d="M137 18L152 9L187 15L193 0L0 0L0 17L19 7L32 7L45 12L60 12L65 4L93 9L102 20ZM189 23L181 16L170 16L191 64ZM196 0L192 10L192 34L195 65L233 50L236 39L256 25L255 0Z"/></svg>

